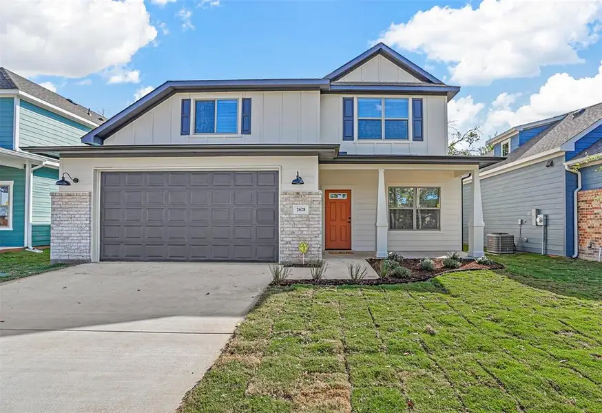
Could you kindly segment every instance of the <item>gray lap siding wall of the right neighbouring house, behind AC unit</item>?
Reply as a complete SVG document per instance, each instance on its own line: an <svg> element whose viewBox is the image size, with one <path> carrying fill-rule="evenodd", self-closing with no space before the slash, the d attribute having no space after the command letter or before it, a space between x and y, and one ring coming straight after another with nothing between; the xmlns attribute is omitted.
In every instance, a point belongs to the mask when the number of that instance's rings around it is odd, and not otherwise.
<svg viewBox="0 0 602 413"><path fill-rule="evenodd" d="M560 156L554 158L554 165L549 168L543 161L489 178L481 176L485 236L488 233L510 233L515 236L518 251L541 253L541 226L531 224L532 209L539 209L540 213L548 215L546 253L564 256L565 172L563 157ZM463 195L463 239L468 242L468 218L472 213L470 184L464 185ZM521 235L519 219L524 222Z"/></svg>

